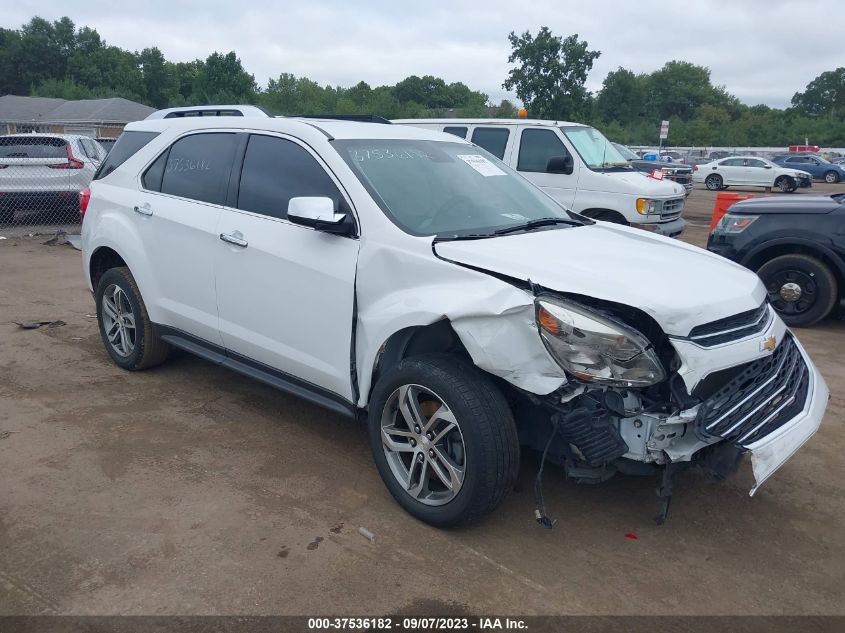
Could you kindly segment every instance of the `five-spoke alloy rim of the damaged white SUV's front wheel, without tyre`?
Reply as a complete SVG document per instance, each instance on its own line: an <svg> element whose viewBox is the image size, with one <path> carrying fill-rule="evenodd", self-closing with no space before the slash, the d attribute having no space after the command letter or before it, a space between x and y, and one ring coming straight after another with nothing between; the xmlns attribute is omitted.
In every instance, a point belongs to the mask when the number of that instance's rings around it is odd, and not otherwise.
<svg viewBox="0 0 845 633"><path fill-rule="evenodd" d="M466 450L449 406L421 385L394 390L381 416L381 439L390 471L420 503L445 505L460 492Z"/></svg>

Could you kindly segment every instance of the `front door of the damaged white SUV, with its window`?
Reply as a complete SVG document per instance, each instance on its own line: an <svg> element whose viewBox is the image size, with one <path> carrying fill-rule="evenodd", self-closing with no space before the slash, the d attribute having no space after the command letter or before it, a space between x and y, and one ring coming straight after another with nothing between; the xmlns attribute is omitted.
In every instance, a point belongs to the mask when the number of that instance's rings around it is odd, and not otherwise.
<svg viewBox="0 0 845 633"><path fill-rule="evenodd" d="M336 209L352 213L310 148L252 134L214 251L220 332L242 362L350 401L359 243L289 222L288 202L299 196L329 197Z"/></svg>

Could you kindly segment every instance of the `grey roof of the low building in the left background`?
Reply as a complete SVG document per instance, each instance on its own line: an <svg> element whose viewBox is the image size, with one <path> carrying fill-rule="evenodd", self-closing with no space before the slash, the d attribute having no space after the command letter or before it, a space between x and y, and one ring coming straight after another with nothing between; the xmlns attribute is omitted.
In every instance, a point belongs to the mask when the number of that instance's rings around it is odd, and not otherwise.
<svg viewBox="0 0 845 633"><path fill-rule="evenodd" d="M142 103L122 97L67 101L47 97L0 97L0 121L38 123L128 123L155 112Z"/></svg>

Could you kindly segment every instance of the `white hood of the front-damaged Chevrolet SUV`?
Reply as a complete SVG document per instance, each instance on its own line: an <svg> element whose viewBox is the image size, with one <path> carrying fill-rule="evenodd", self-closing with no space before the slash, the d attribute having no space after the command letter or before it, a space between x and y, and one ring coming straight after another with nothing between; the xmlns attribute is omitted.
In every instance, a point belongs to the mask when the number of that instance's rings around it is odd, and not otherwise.
<svg viewBox="0 0 845 633"><path fill-rule="evenodd" d="M640 308L676 336L756 308L766 297L757 275L718 255L603 222L439 242L434 249L455 263Z"/></svg>

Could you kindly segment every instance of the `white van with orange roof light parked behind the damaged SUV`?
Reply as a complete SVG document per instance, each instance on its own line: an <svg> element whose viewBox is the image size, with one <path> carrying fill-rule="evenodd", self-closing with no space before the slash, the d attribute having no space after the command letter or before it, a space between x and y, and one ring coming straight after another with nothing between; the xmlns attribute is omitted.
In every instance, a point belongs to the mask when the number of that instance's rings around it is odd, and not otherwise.
<svg viewBox="0 0 845 633"><path fill-rule="evenodd" d="M613 143L581 123L532 119L396 119L472 141L566 208L596 220L677 237L686 191L633 169Z"/></svg>

